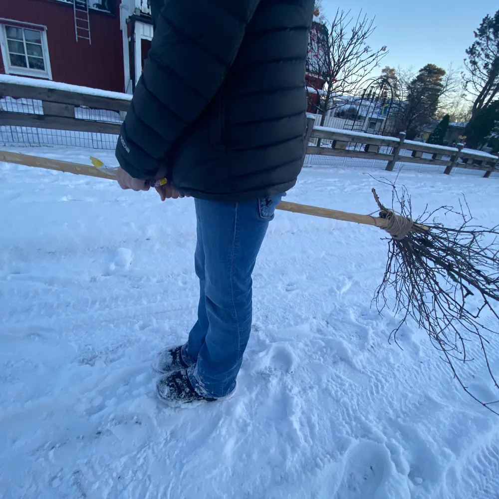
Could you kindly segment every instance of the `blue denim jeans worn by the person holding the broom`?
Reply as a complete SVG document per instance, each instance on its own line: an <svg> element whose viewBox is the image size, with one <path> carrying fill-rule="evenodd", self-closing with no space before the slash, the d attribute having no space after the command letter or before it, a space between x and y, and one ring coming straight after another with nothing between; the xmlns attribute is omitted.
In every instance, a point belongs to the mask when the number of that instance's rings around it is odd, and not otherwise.
<svg viewBox="0 0 499 499"><path fill-rule="evenodd" d="M245 203L196 199L198 320L182 347L194 389L221 398L236 388L251 330L251 273L283 195Z"/></svg>

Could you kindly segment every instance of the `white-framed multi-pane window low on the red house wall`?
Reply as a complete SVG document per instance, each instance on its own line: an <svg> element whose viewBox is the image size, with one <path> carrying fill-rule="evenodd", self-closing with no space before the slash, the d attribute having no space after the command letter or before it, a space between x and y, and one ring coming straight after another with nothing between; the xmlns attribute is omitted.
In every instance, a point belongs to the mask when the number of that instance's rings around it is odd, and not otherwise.
<svg viewBox="0 0 499 499"><path fill-rule="evenodd" d="M51 79L45 30L8 24L1 28L5 72Z"/></svg>

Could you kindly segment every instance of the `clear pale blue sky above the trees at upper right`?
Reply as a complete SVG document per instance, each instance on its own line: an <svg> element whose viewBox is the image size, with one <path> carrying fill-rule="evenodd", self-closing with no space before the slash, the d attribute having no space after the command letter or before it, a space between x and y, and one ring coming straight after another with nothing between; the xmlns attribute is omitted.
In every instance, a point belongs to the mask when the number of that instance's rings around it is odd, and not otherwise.
<svg viewBox="0 0 499 499"><path fill-rule="evenodd" d="M497 0L322 0L323 13L332 18L337 8L362 9L376 16L373 47L387 45L382 66L413 66L431 62L447 69L463 66L465 50L473 43L473 31L487 14L499 9Z"/></svg>

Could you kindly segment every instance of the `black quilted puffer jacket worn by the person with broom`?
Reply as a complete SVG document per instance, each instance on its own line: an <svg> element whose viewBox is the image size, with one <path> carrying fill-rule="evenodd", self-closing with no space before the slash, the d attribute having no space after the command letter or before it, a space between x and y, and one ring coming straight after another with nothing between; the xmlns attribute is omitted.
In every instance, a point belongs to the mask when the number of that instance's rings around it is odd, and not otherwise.
<svg viewBox="0 0 499 499"><path fill-rule="evenodd" d="M220 201L293 187L313 4L165 0L118 139L121 167L139 179L165 169L182 193Z"/></svg>

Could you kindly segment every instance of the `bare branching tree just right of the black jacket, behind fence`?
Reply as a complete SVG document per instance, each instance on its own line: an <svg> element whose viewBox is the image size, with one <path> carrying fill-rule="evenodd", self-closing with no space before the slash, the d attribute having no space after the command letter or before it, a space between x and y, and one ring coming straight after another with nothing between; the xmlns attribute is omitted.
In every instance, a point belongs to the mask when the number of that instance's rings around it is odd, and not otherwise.
<svg viewBox="0 0 499 499"><path fill-rule="evenodd" d="M376 29L374 18L369 19L362 10L357 17L350 12L338 9L331 23L325 24L325 38L320 40L319 33L316 40L311 39L307 72L323 84L316 88L315 99L322 125L335 97L352 94L387 53L386 46L376 50L367 42Z"/></svg>

